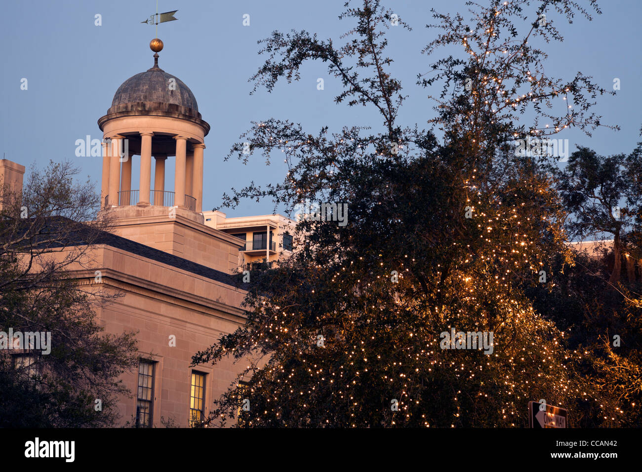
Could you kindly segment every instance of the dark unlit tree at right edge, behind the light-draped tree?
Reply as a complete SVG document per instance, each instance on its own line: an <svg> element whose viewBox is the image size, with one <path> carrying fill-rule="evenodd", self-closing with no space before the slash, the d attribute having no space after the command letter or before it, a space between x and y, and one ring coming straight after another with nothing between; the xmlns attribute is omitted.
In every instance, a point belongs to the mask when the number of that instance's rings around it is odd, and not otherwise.
<svg viewBox="0 0 642 472"><path fill-rule="evenodd" d="M580 146L564 170L555 172L569 212L569 237L610 235L613 244L603 243L593 254L573 252L570 262L558 258L551 283L530 290L537 310L569 333L566 345L586 353L578 372L605 392L594 402L604 396L615 399L606 419L620 426L642 423L639 148L629 155L604 157ZM584 424L599 426L604 420L589 408Z"/></svg>

